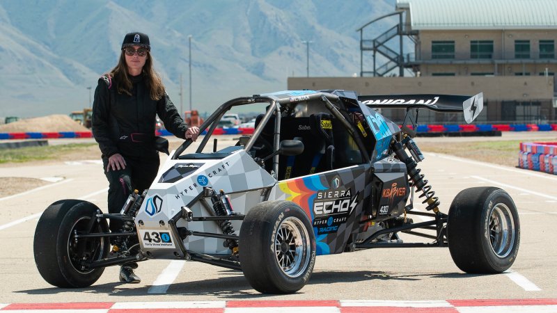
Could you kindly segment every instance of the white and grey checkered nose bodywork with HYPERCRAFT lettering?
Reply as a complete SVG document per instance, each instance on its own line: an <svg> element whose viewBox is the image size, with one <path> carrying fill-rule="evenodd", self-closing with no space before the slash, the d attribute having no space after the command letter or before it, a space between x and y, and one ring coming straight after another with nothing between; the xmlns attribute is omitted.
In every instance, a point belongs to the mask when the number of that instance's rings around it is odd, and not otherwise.
<svg viewBox="0 0 557 313"><path fill-rule="evenodd" d="M172 184L157 183L152 185L146 199L159 195L163 199L162 209L159 214L150 216L146 211L148 201L143 202L143 207L136 216L136 220L143 221L143 225L136 225L138 230L154 229L169 232L168 223L160 225L159 220L169 220L178 214L180 208L185 205L191 205L190 209L193 211L194 216L212 216L212 211L207 210L212 210L210 200L207 200L210 208L206 208L199 201L193 205L190 203L199 193L203 192L204 187L211 187L217 192L222 189L230 196L230 202L232 202L235 211L244 214L246 209L262 201L260 191L262 188L273 186L276 183L274 177L253 161L253 158L244 150L230 154L230 156L224 159L207 160L205 163L201 162L201 160L195 160L191 163L195 163L200 167L193 172L189 172L187 177L181 178ZM161 177L166 175L166 177L175 178L177 175L180 175L180 172L175 170L177 165L191 163L185 160L167 161L164 164L164 168L169 170L159 172L159 175ZM199 180L200 177L205 177L207 184L203 185ZM160 178L157 181L159 180ZM233 222L235 230L240 230L240 223ZM188 230L197 232L222 233L220 227L214 222L186 223L184 220L180 220L177 226L185 226ZM230 250L223 247L223 239L188 236L184 243L188 250L194 252L230 254ZM178 251L178 247L176 249Z"/></svg>

